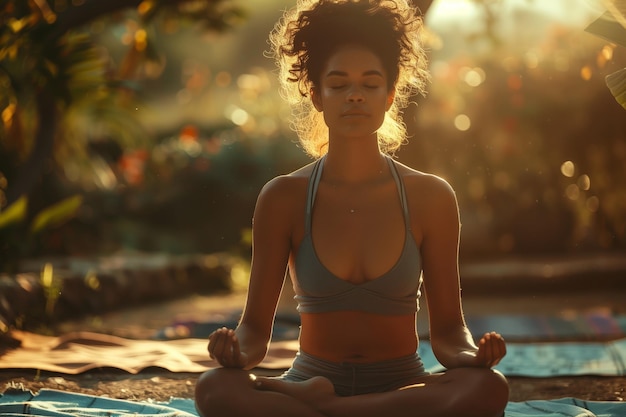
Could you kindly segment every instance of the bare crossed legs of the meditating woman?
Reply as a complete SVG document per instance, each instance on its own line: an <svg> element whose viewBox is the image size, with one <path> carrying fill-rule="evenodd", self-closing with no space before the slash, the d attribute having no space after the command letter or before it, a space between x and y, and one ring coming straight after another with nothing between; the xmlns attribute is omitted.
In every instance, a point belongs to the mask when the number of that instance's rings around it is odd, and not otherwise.
<svg viewBox="0 0 626 417"><path fill-rule="evenodd" d="M247 372L232 369L208 371L196 386L196 407L203 416L500 417L507 401L504 376L483 368L453 369L396 391L352 397L336 396L322 377L254 381Z"/></svg>

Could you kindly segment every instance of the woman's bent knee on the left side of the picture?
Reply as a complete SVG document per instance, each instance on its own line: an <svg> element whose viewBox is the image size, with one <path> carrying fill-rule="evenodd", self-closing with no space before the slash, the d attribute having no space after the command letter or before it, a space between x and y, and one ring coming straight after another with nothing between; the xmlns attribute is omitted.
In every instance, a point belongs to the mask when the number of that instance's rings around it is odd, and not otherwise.
<svg viewBox="0 0 626 417"><path fill-rule="evenodd" d="M211 369L196 382L196 410L200 416L231 415L229 410L237 404L237 398L241 398L241 391L248 387L252 387L252 380L246 371Z"/></svg>

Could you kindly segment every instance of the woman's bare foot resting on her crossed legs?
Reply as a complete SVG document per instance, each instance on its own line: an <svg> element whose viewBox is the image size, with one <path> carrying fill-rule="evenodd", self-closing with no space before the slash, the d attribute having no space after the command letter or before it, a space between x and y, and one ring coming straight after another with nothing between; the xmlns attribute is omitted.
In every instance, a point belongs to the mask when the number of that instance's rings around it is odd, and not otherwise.
<svg viewBox="0 0 626 417"><path fill-rule="evenodd" d="M304 382L257 377L255 385L259 390L280 392L315 408L336 397L332 382L321 376L313 377Z"/></svg>

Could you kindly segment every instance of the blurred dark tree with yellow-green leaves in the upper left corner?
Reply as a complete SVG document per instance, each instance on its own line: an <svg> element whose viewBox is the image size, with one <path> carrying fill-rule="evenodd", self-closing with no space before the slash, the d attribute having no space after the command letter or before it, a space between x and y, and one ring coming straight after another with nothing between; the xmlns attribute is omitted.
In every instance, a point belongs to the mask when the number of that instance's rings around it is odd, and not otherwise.
<svg viewBox="0 0 626 417"><path fill-rule="evenodd" d="M137 24L116 66L93 29L129 14ZM134 93L150 73L140 68L164 65L152 41L159 24L176 19L179 27L223 32L243 17L228 0L0 0L0 264L17 257L9 240L27 240L23 234L43 212L33 207L40 197L34 189L46 189L41 184L49 181L45 174L55 159L90 170L106 188L104 162L148 137L134 115ZM106 169L94 172L98 167ZM76 211L72 204L58 207L55 224Z"/></svg>

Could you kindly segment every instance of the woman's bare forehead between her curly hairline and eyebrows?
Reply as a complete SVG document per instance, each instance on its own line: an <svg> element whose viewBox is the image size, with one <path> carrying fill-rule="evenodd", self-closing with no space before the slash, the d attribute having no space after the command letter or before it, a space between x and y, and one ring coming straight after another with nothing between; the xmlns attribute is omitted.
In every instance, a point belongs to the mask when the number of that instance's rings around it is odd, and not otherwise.
<svg viewBox="0 0 626 417"><path fill-rule="evenodd" d="M323 75L326 76L337 71L347 74L378 72L386 77L380 58L371 50L360 45L342 45L330 54Z"/></svg>

